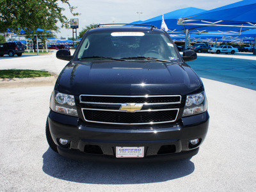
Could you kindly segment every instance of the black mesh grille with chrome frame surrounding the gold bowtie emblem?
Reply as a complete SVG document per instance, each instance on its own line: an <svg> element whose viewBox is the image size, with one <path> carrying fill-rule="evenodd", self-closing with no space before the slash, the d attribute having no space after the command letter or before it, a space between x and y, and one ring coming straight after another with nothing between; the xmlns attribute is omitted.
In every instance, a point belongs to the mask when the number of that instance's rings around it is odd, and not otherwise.
<svg viewBox="0 0 256 192"><path fill-rule="evenodd" d="M161 124L175 122L179 114L181 96L102 96L80 95L84 120L101 124ZM143 104L132 112L121 111L127 104Z"/></svg>

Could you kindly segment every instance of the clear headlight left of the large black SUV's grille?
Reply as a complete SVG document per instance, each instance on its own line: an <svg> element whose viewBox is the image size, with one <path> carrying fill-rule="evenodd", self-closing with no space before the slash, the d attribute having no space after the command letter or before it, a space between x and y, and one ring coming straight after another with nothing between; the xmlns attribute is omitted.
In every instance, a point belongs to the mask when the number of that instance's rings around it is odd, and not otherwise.
<svg viewBox="0 0 256 192"><path fill-rule="evenodd" d="M78 116L74 95L52 92L50 108L57 113Z"/></svg>

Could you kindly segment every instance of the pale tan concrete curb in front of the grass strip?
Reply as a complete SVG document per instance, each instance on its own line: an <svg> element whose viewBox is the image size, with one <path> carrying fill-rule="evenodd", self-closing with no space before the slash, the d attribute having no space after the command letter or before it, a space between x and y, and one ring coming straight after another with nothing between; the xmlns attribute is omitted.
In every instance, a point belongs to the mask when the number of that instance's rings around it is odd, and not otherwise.
<svg viewBox="0 0 256 192"><path fill-rule="evenodd" d="M0 88L54 86L58 76L0 79Z"/></svg>

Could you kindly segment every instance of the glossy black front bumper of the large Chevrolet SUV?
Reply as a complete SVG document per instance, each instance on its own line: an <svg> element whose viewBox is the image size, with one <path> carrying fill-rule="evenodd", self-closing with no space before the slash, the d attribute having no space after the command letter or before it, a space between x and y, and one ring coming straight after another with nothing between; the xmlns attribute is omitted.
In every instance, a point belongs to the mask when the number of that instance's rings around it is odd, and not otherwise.
<svg viewBox="0 0 256 192"><path fill-rule="evenodd" d="M130 127L86 124L79 118L50 111L48 121L52 140L61 156L122 162L166 161L197 154L207 134L209 114L188 116L177 124ZM59 138L69 140L70 145L61 147ZM200 143L189 145L189 140L196 138ZM116 158L116 147L144 147L144 157Z"/></svg>

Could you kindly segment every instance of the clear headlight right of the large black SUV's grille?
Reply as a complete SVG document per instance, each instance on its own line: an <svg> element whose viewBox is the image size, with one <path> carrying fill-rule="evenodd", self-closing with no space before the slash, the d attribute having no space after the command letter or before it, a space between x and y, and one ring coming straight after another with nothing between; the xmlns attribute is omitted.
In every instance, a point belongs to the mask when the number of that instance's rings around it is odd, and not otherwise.
<svg viewBox="0 0 256 192"><path fill-rule="evenodd" d="M207 110L207 99L205 92L187 95L186 104L182 116L196 115Z"/></svg>

